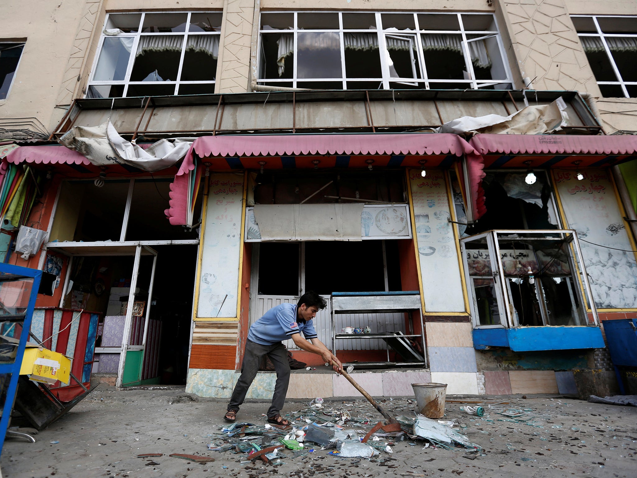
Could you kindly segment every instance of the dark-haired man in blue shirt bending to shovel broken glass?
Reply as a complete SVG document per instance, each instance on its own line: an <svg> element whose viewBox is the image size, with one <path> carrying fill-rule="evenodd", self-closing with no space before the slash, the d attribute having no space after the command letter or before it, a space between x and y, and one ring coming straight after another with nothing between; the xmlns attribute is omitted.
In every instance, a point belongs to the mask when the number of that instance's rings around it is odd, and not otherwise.
<svg viewBox="0 0 637 478"><path fill-rule="evenodd" d="M262 359L267 355L276 370L275 392L272 396L272 405L268 410L268 422L289 425L289 421L280 415L290 382L290 364L287 359L287 349L282 344L283 340L292 338L299 349L320 355L326 363L335 363L334 371L340 373L343 365L332 352L327 350L323 342L318 340L312 322L317 312L326 307L324 298L317 293L308 292L301 296L297 305L290 303L277 305L250 326L243 363L241 363L241 376L237 380L228 403L228 411L224 417L226 421L236 420L236 414L245 400L248 388L257 376ZM301 337L301 332L305 338Z"/></svg>

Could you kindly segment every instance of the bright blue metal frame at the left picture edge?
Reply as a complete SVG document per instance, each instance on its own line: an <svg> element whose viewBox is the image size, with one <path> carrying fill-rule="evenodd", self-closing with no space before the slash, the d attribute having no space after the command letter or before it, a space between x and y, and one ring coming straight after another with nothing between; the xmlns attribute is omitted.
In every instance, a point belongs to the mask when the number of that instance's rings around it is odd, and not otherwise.
<svg viewBox="0 0 637 478"><path fill-rule="evenodd" d="M4 437L6 436L6 430L9 427L11 409L13 409L13 402L15 400L15 392L17 391L18 387L18 376L20 375L20 367L22 366L24 349L26 348L27 340L29 338L29 330L31 330L31 318L33 316L33 309L36 305L36 298L38 296L38 289L40 279L42 277L42 271L29 269L26 267L14 266L12 264L0 263L0 273L16 274L33 278L33 282L31 285L31 295L29 296L29 304L27 305L27 310L24 315L24 322L22 322L22 333L20 333L20 342L18 342L18 351L15 356L15 361L12 364L0 364L0 373L9 373L11 375L9 386L6 391L6 398L4 400L4 403L2 404L3 412L2 418L0 419L1 454L4 447Z"/></svg>

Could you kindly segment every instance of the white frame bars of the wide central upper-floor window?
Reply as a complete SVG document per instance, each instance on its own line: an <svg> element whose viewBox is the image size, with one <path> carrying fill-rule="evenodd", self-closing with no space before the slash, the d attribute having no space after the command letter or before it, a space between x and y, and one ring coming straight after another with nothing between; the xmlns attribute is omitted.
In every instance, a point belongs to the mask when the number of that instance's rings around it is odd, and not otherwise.
<svg viewBox="0 0 637 478"><path fill-rule="evenodd" d="M294 88L303 88L303 83L306 82L341 82L343 89L348 89L348 82L352 83L349 88L359 89L356 86L357 82L378 82L379 86L382 84L382 89L390 89L391 83L399 83L405 85L420 85L422 89L437 89L436 85L438 83L459 83L461 85L467 85L468 89L480 89L481 87L489 87L491 85L500 85L503 83L511 83L512 73L510 66L508 64L508 60L506 57L505 47L503 45L503 41L501 35L499 33L500 28L497 24L497 18L493 13L486 12L458 12L458 13L434 13L434 15L456 15L459 30L426 30L420 29L418 23L418 15L420 13L429 13L422 11L330 11L330 10L313 10L313 11L289 11L289 10L276 10L276 11L264 11L262 13L292 13L294 15L294 26L292 29L262 29L262 20L261 15L259 17L259 43L257 50L257 58L259 60L262 59L262 42L261 38L264 34L293 34L294 35L294 65L293 65L293 75L292 78L262 78L261 68L259 68L259 79L257 82L261 85L271 84L271 83L292 83L292 87ZM339 28L336 29L298 29L297 27L297 14L298 13L338 13L339 19ZM375 15L376 18L376 29L344 29L343 28L343 13L371 13ZM395 28L383 29L382 25L382 17L383 14L390 13L402 13L406 15L413 15L415 29L413 30L399 30ZM496 30L475 30L475 31L466 31L464 29L464 25L462 24L462 15L489 15L494 21L494 25L496 25ZM341 78L297 78L297 33L326 33L333 32L338 33L341 40L341 67L342 67L342 76ZM343 42L343 34L344 33L376 33L378 35L378 47L380 50L380 64L382 70L382 78L347 78L345 75L345 44ZM437 78L429 78L427 76L427 68L426 63L424 61L424 55L422 50L422 40L420 38L421 34L458 34L462 35L462 48L463 48L463 56L466 63L466 71L468 72L470 78L463 80L447 80L447 79L437 79ZM467 39L467 35L475 35L479 34L480 38L472 38ZM413 37L416 41L417 51L414 52L418 55L418 66L415 68L416 75L418 78L394 78L390 76L389 66L387 65L387 43L385 41L385 36L402 36L402 37ZM499 54L501 57L501 61L504 64L504 69L506 72L506 78L498 79L498 80L476 80L475 72L473 71L473 64L471 62L471 56L469 54L469 41L476 41L483 38L496 38L497 47L499 50ZM381 89L381 88L379 88Z"/></svg>

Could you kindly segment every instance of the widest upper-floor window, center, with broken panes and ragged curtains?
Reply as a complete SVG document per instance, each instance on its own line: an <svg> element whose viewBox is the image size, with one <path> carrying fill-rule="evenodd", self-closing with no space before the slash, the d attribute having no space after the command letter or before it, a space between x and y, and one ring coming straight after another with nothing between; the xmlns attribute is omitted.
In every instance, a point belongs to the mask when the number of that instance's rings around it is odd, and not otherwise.
<svg viewBox="0 0 637 478"><path fill-rule="evenodd" d="M490 13L261 14L259 83L299 89L510 89Z"/></svg>

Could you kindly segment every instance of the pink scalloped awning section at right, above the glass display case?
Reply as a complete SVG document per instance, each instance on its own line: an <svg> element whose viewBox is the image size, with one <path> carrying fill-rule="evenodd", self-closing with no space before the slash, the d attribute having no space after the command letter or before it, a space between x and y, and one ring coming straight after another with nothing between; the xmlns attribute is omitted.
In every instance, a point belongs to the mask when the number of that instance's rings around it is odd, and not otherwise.
<svg viewBox="0 0 637 478"><path fill-rule="evenodd" d="M634 154L637 151L637 136L476 134L469 144L480 154Z"/></svg>

